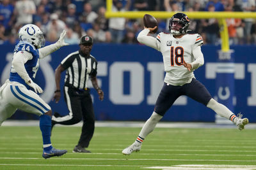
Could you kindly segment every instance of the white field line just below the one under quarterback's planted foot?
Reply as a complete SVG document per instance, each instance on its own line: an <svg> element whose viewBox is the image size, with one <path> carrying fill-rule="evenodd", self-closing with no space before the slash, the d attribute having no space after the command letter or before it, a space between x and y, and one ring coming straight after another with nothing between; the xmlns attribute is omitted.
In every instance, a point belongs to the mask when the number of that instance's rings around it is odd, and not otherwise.
<svg viewBox="0 0 256 170"><path fill-rule="evenodd" d="M0 157L0 159L31 159L42 160L42 158L19 158L19 157ZM158 161L216 161L216 162L256 162L256 160L220 160L220 159L103 159L103 158L54 158L54 160L158 160Z"/></svg>

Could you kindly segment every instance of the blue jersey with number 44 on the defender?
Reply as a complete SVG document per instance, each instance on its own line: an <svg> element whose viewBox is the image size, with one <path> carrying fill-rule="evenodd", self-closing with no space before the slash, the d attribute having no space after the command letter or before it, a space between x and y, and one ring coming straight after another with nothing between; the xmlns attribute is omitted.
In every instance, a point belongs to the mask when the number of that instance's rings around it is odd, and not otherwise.
<svg viewBox="0 0 256 170"><path fill-rule="evenodd" d="M31 80L34 81L35 76L36 76L36 71L38 70L38 67L39 67L39 62L38 62L39 52L38 52L38 50L31 43L22 41L15 46L13 53L17 53L17 52L29 52L33 55L33 58L31 60L28 60L24 64L24 66L25 66L25 69L26 69L29 77L31 78ZM26 55L26 53L24 53L24 54ZM15 71L13 66L12 66L11 72L10 72L10 81L17 81L17 82L25 85L27 87L27 89L30 89L29 85L27 85L26 82L19 76L19 74Z"/></svg>

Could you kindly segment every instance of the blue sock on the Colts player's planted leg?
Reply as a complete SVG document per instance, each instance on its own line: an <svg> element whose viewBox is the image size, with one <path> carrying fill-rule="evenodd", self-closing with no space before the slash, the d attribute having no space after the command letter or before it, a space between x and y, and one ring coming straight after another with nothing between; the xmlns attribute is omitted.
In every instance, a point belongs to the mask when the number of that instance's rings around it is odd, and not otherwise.
<svg viewBox="0 0 256 170"><path fill-rule="evenodd" d="M40 116L40 130L43 136L44 150L48 151L52 149L51 146L51 117L49 115Z"/></svg>

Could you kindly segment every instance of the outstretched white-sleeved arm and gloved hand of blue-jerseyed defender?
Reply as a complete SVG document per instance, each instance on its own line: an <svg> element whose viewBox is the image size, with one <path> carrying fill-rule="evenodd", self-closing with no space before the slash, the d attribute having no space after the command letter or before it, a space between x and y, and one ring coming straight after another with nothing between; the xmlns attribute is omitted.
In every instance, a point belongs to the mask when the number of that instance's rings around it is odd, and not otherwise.
<svg viewBox="0 0 256 170"><path fill-rule="evenodd" d="M61 48L61 46L68 45L68 43L65 43L65 41L64 41L65 35L66 35L66 31L63 30L63 32L60 34L60 38L58 39L58 41L56 43L54 43L52 45L47 45L44 48L38 49L40 59L46 57L47 55L49 55L52 52L55 52L56 50Z"/></svg>

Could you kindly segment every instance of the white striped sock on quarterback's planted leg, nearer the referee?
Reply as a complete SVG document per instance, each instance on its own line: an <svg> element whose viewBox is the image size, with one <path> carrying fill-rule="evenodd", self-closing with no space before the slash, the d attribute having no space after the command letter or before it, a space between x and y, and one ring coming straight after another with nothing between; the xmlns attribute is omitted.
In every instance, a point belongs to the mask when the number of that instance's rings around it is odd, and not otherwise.
<svg viewBox="0 0 256 170"><path fill-rule="evenodd" d="M152 113L151 117L148 118L147 122L143 125L138 138L134 141L136 145L141 145L144 139L154 130L157 122L161 120L163 116L157 114L155 111Z"/></svg>

